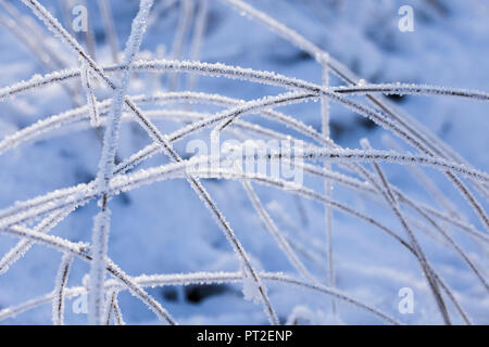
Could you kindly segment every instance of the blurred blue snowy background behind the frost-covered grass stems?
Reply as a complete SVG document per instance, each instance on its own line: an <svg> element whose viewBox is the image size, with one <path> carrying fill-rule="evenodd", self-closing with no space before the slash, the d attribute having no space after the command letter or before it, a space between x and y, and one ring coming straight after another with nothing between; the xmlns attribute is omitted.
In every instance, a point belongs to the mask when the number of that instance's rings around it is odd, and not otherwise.
<svg viewBox="0 0 489 347"><path fill-rule="evenodd" d="M82 3L61 1L68 8ZM73 17L63 17L61 1L46 0L41 3L57 17L70 23ZM369 82L401 81L489 91L489 2L486 0L247 1L296 29ZM8 2L23 15L37 22L21 1ZM139 54L141 59L167 57L172 53L181 3L175 1L164 7L160 5L161 2L166 1L155 1L155 9L160 10L153 13L145 35ZM110 1L121 51L129 35L138 3L137 0ZM199 3L200 1L195 1L196 11ZM398 10L404 4L412 5L415 11L415 27L412 33L401 33L398 28ZM112 64L98 1L87 0L86 5L96 40L96 59L100 64ZM0 24L9 18L9 14L0 7ZM181 59L189 57L191 33L192 28L187 33ZM83 35L78 35L78 38L86 43ZM77 60L55 39L47 44L59 52L59 59L67 62L68 66L77 66ZM217 0L209 1L200 60L273 70L321 83L321 66L312 56ZM0 87L50 70L12 30L0 25ZM151 93L154 86L165 86L167 78L167 74L161 77L141 74L133 80L130 93ZM184 90L186 83L187 79L183 75L178 89ZM340 85L340 81L331 78L331 85ZM244 100L281 92L275 87L211 77L200 77L196 90ZM101 91L101 95L103 99L111 97L106 90L104 94ZM474 167L482 171L489 170L487 103L426 97L399 97L391 100L438 134ZM73 106L68 95L59 87L1 102L0 137ZM319 103L305 103L283 107L280 111L321 131L319 107ZM279 131L289 131L258 116L247 116L247 120ZM165 133L181 126L168 121L156 124ZM365 137L374 147L385 149L381 142L384 133L383 129L365 118L340 105L331 105L331 138L338 144L360 147L359 141ZM121 158L128 157L148 143L148 137L137 125L125 123L117 154ZM179 143L176 149L185 154L185 143ZM101 142L95 131L84 130L59 133L54 138L35 141L2 154L0 208L54 189L91 181L97 175L100 150ZM158 155L141 167L163 163L166 163L166 158ZM405 168L399 165L384 165L383 168L389 181L409 196L439 207ZM456 209L467 216L471 223L484 230L452 184L435 170L426 172L449 196ZM239 182L204 180L203 183L234 227L253 264L266 271L293 273L279 247L262 227ZM308 184L321 190L323 183L311 179ZM272 217L277 218L280 230L298 243L306 239L305 242L314 244L310 247L319 259L324 259L324 264L313 262L306 257L301 259L311 272L326 281L327 247L323 206L306 200L298 201L287 192L258 185L255 189L269 208ZM360 210L379 216L387 224L400 229L392 214L361 195L335 185L334 196ZM222 231L185 180L142 187L115 197L111 206L113 220L109 255L128 274L239 270L239 264ZM487 204L485 207L488 207ZM97 211L96 202L91 202L73 213L53 233L72 241L89 242L92 217ZM429 287L412 254L373 227L339 213L335 213L333 228L336 282L339 290L405 323L441 323ZM419 234L428 258L456 293L474 322L488 324L489 296L482 285L453 252L429 236ZM460 231L452 232L452 235L487 273L487 247L484 249L484 245L476 244ZM16 242L13 237L0 236L0 254L3 255ZM0 309L52 291L60 257L58 252L35 246L7 273L1 274ZM75 260L68 286L82 285L88 269L87 264ZM383 323L374 316L339 301L338 312L334 317L330 299L326 296L275 283L267 285L271 300L283 322L294 309L305 307L310 310L311 321L317 324ZM413 314L401 314L398 311L401 299L398 292L401 287L411 287L414 292ZM242 285L239 284L191 285L150 288L149 293L183 324L266 324L267 320L260 305L244 300L241 288ZM86 323L86 314L73 312L72 303L72 299L66 303L66 322ZM153 313L127 292L121 293L120 305L127 323L158 323ZM452 308L450 311L454 312ZM462 323L456 313L452 316L454 323ZM3 324L50 322L49 304L2 321Z"/></svg>

